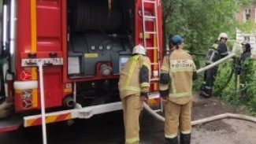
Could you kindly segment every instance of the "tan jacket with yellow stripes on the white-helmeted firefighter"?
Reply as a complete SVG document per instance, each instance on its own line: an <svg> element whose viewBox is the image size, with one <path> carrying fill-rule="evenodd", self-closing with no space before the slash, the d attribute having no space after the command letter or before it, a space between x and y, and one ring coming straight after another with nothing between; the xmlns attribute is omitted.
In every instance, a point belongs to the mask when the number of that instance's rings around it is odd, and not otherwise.
<svg viewBox="0 0 256 144"><path fill-rule="evenodd" d="M147 56L135 54L129 58L121 71L118 88L120 97L148 93L150 88L150 59Z"/></svg>

